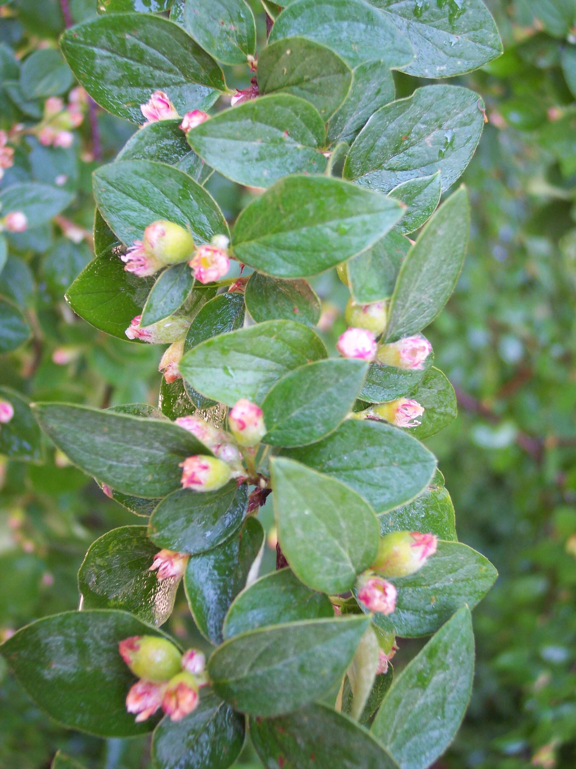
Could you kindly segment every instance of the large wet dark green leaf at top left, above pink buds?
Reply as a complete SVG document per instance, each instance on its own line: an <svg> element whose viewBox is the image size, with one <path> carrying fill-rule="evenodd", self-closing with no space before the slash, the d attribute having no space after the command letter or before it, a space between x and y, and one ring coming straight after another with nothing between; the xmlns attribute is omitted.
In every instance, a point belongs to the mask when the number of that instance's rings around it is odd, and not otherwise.
<svg viewBox="0 0 576 769"><path fill-rule="evenodd" d="M211 56L166 18L108 14L67 29L60 40L72 72L95 102L134 123L152 92L163 91L183 115L205 109L225 90Z"/></svg>

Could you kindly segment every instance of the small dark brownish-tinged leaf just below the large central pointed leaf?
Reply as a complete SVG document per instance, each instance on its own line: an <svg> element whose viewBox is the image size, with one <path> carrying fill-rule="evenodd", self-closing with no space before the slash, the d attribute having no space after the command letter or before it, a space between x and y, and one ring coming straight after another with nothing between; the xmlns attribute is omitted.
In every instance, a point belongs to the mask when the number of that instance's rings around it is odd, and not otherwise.
<svg viewBox="0 0 576 769"><path fill-rule="evenodd" d="M314 327L320 320L320 299L306 281L267 278L253 272L246 284L244 300L256 323L284 318Z"/></svg>

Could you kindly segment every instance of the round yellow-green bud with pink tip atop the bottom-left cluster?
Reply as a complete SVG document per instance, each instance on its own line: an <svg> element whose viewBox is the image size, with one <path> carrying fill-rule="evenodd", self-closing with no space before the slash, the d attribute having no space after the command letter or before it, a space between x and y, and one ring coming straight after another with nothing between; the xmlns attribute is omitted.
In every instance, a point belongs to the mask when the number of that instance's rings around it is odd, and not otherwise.
<svg viewBox="0 0 576 769"><path fill-rule="evenodd" d="M132 673L154 684L161 684L177 674L181 653L166 638L157 635L133 635L118 644L120 656Z"/></svg>

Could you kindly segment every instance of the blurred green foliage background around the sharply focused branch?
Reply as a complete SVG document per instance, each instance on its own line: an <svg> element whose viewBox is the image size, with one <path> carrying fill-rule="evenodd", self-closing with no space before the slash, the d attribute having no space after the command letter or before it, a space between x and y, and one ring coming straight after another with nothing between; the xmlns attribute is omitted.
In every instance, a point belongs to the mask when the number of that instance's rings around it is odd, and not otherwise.
<svg viewBox="0 0 576 769"><path fill-rule="evenodd" d="M94 15L95 0L69 5L76 22ZM454 501L459 538L484 553L500 578L474 611L478 663L470 710L435 766L574 769L576 3L487 5L504 56L450 81L478 91L489 119L464 177L473 209L468 258L448 307L427 331L439 367L457 388L460 412L428 444ZM13 77L8 53L15 49L22 59L45 40L53 46L63 26L56 0L0 4L2 128L35 123L32 102L5 87ZM248 85L244 71L230 82L242 87L242 78ZM398 73L395 78L397 98L420 85ZM99 158L88 118L70 149L43 148L30 135L0 188L66 175L76 198L65 218L89 230L90 173L112 160L134 130L102 111L95 119ZM249 194L218 175L209 188L231 219ZM65 305L65 288L92 257L88 238L75 242L66 229L60 222L10 238L0 295L25 306L35 335L2 358L0 386L33 400L155 403L159 348L105 336ZM327 331L334 340L343 329L338 313L348 292L334 271L315 288L336 315ZM71 358L66 365L52 361L59 348ZM53 451L43 465L2 462L0 478L5 637L32 619L76 608L76 573L88 545L138 519ZM265 510L264 520L270 517ZM271 568L271 550L267 561ZM169 629L201 643L182 598ZM400 647L397 670L418 644L400 641ZM66 731L0 667L0 767L45 769L58 748L94 769L149 766L147 741L101 741ZM259 766L249 747L241 765Z"/></svg>

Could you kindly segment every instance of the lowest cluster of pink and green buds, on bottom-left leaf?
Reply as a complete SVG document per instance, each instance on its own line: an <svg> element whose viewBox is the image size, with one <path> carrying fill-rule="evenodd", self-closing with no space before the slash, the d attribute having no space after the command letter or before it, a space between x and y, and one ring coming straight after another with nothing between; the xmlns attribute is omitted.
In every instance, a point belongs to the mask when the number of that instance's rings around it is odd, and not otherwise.
<svg viewBox="0 0 576 769"><path fill-rule="evenodd" d="M126 710L136 714L137 722L160 707L171 721L180 721L198 707L199 689L208 684L201 651L180 654L171 641L153 635L125 638L118 651L139 679L126 697Z"/></svg>

